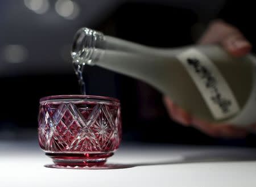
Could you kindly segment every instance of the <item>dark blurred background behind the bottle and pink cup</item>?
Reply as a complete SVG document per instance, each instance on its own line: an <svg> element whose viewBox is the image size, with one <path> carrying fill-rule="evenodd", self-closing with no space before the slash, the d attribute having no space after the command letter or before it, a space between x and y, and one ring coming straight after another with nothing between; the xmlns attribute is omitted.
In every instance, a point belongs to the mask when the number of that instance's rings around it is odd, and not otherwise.
<svg viewBox="0 0 256 187"><path fill-rule="evenodd" d="M221 17L241 27L254 44L255 26L247 19L253 17L248 15L250 6L230 2L1 1L0 141L36 139L40 97L80 94L69 57L77 29L90 27L144 45L171 48L194 44L209 21ZM255 146L253 134L245 139L218 139L176 124L166 113L162 95L145 83L98 67L88 66L85 73L88 95L121 100L123 141Z"/></svg>

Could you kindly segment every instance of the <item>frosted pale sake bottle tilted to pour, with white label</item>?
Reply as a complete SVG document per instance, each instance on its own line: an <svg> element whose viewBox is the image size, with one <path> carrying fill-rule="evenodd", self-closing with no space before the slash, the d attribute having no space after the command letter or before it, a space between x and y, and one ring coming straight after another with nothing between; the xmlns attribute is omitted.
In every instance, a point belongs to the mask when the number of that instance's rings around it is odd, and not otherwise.
<svg viewBox="0 0 256 187"><path fill-rule="evenodd" d="M153 48L81 28L71 56L73 63L143 80L203 120L237 126L256 122L256 61L252 54L233 57L219 45Z"/></svg>

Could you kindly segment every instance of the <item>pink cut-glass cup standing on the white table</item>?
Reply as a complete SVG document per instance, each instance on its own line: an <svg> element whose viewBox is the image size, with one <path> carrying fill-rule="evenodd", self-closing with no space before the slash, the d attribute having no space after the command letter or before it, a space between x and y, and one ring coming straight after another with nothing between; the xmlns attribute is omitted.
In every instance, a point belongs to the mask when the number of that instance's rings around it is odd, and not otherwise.
<svg viewBox="0 0 256 187"><path fill-rule="evenodd" d="M121 141L119 100L87 95L40 99L39 145L55 165L103 165Z"/></svg>

